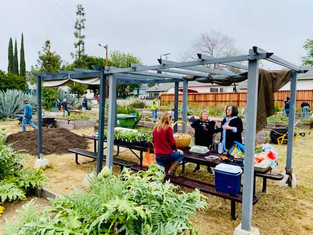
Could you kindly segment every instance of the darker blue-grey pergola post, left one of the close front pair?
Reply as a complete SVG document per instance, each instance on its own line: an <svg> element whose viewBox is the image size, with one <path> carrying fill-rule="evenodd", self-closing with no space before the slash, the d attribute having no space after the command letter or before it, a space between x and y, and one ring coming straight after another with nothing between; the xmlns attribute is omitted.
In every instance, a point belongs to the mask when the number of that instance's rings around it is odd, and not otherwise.
<svg viewBox="0 0 313 235"><path fill-rule="evenodd" d="M99 104L99 124L98 124L98 158L97 174L102 170L103 145L104 145L104 116L106 106L106 76L100 75L100 104Z"/></svg>

